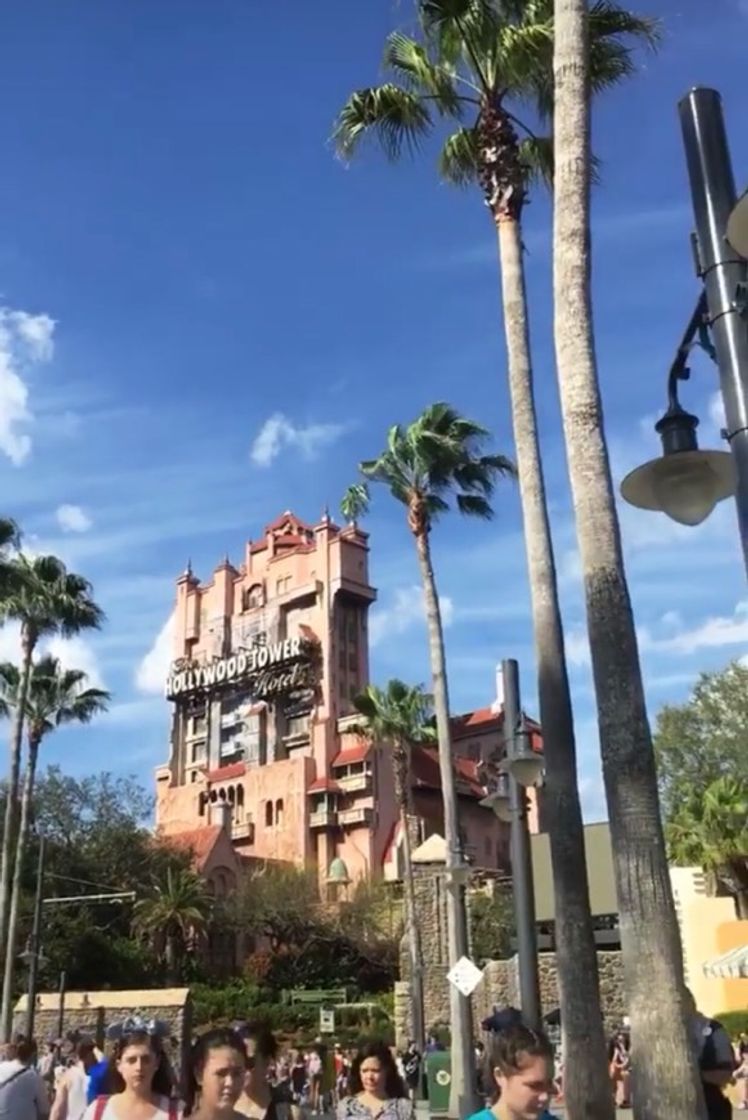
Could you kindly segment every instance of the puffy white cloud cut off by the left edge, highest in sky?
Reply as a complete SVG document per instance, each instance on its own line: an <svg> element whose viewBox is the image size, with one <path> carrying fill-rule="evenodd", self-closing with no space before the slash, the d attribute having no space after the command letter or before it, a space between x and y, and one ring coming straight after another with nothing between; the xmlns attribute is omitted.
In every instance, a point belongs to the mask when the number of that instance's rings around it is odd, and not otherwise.
<svg viewBox="0 0 748 1120"><path fill-rule="evenodd" d="M54 352L55 321L48 315L30 315L0 307L0 451L13 466L30 455L34 422L25 375L29 367L49 362Z"/></svg>

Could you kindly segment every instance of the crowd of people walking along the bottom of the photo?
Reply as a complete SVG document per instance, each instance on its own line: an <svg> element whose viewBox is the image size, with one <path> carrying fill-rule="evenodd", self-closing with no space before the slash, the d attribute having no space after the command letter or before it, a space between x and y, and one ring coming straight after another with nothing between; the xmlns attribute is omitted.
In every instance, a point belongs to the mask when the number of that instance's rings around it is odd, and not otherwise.
<svg viewBox="0 0 748 1120"><path fill-rule="evenodd" d="M733 1079L739 1109L748 1110L748 1035L735 1048L719 1023L693 1011L694 1042L710 1120L727 1120L724 1088ZM561 1090L559 1054L546 1035L521 1019L477 1043L485 1108L468 1120L552 1120ZM47 1047L18 1039L0 1055L0 1120L412 1120L424 1060L414 1043L402 1052L382 1043L356 1051L318 1039L281 1053L273 1035L249 1024L208 1030L193 1045L178 1080L168 1030L129 1018L107 1032L106 1053L90 1038ZM438 1048L434 1039L428 1049ZM610 1042L616 1103L630 1105L630 1037ZM561 1076L560 1076L561 1073Z"/></svg>

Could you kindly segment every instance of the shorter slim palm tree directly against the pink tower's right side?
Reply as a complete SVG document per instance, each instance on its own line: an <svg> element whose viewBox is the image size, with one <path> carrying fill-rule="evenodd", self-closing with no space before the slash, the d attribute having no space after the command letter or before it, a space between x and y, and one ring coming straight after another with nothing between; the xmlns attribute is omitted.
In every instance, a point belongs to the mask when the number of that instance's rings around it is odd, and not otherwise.
<svg viewBox="0 0 748 1120"><path fill-rule="evenodd" d="M345 515L345 511L344 511ZM385 689L367 684L354 700L356 711L366 724L357 728L375 743L389 743L395 782L395 801L400 808L400 831L403 844L403 889L405 895L405 933L410 956L412 1034L419 1053L426 1049L423 1021L423 959L421 936L415 911L415 884L411 864L411 830L413 795L411 786L411 745L433 743L436 731L430 724L432 701L421 684L409 685L403 681L387 681Z"/></svg>

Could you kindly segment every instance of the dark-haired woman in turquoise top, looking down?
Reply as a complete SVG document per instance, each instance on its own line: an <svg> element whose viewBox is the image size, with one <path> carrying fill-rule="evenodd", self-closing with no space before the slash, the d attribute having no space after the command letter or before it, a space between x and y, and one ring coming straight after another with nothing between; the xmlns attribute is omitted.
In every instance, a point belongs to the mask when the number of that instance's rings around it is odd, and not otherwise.
<svg viewBox="0 0 748 1120"><path fill-rule="evenodd" d="M469 1120L553 1120L553 1047L541 1030L517 1023L495 1034L485 1082L493 1103Z"/></svg>

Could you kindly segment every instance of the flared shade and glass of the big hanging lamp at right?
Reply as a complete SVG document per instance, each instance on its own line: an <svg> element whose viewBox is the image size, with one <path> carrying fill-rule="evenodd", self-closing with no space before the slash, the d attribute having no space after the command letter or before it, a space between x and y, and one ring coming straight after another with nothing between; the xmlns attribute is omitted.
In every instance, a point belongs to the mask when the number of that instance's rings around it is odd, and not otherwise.
<svg viewBox="0 0 748 1120"><path fill-rule="evenodd" d="M674 451L649 459L620 484L621 496L639 510L657 510L681 525L700 525L718 502L735 494L729 451Z"/></svg>

